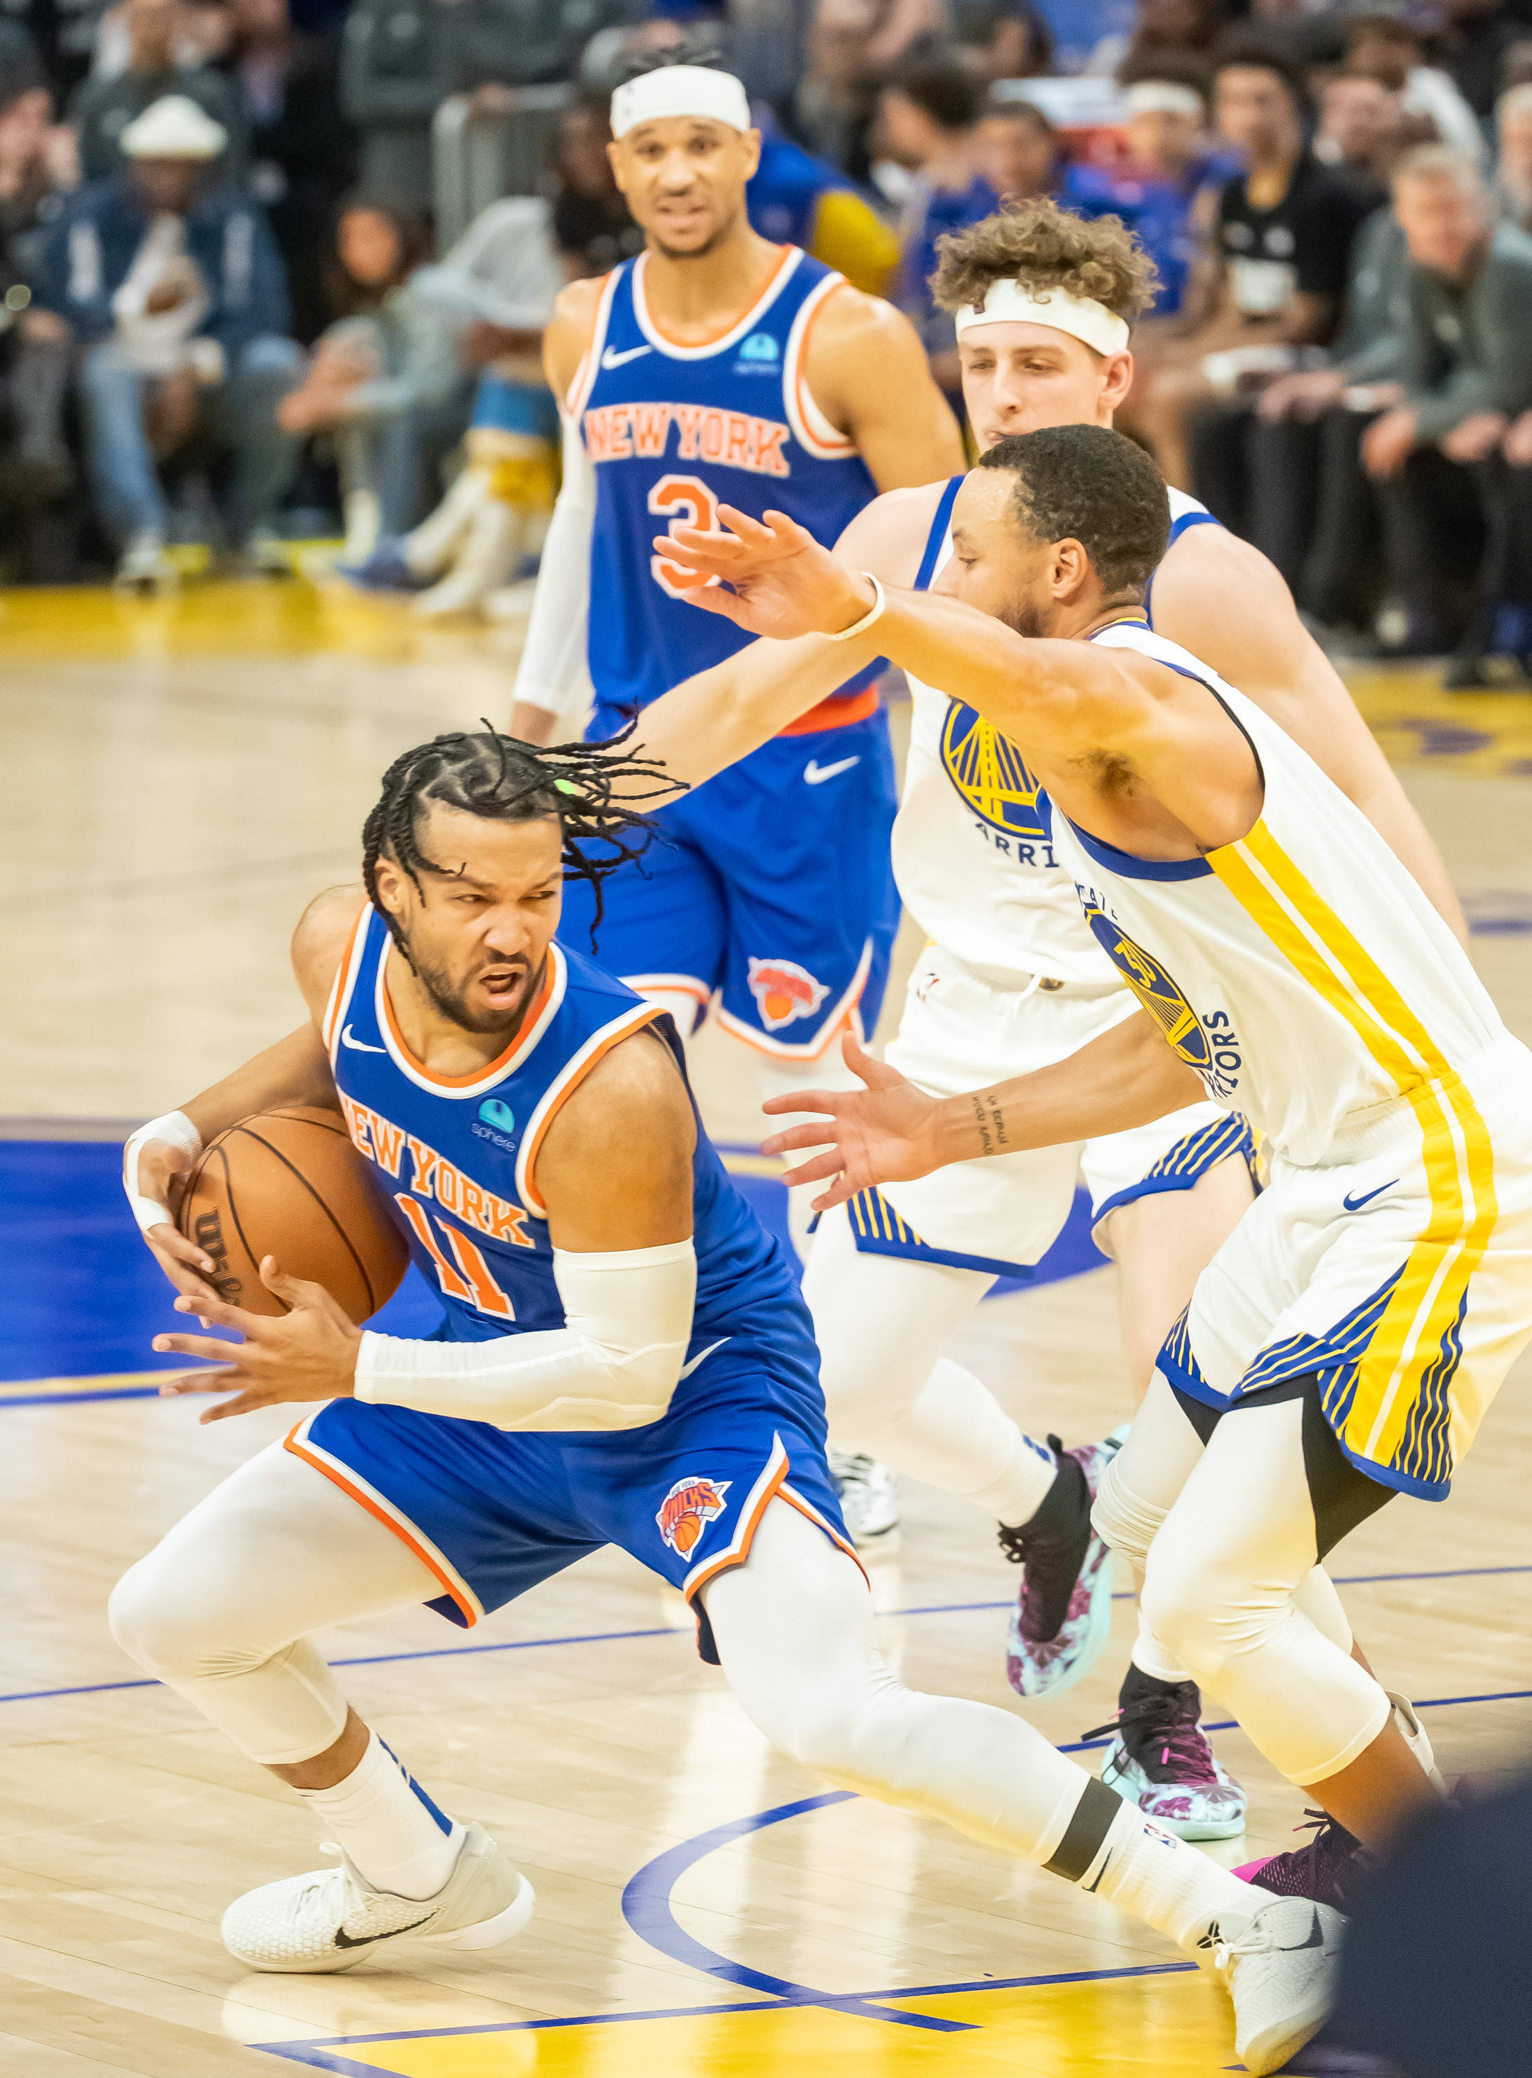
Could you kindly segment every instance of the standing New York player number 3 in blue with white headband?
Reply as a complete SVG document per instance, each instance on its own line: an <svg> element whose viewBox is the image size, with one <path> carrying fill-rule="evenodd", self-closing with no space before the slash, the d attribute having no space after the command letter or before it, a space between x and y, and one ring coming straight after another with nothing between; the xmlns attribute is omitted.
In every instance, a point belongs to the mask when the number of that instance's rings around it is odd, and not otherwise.
<svg viewBox="0 0 1532 2078"><path fill-rule="evenodd" d="M611 738L740 646L682 603L653 547L667 526L711 526L721 501L773 505L829 542L879 490L962 468L900 312L750 229L761 137L742 83L667 56L611 98L611 166L646 249L572 283L545 341L565 474L511 715L534 744L590 686L586 734ZM769 1087L834 1056L848 1020L877 1022L898 898L875 677L859 673L661 808L669 842L607 887L603 966L669 1010L682 1037L715 1006L719 1027L765 1056ZM572 937L588 921L590 898L572 889Z"/></svg>

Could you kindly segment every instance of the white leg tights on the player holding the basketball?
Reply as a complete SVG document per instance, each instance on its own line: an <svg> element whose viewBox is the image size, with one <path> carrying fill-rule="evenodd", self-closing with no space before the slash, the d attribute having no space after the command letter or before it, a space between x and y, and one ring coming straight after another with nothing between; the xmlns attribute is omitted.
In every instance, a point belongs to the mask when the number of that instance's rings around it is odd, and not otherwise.
<svg viewBox="0 0 1532 2078"><path fill-rule="evenodd" d="M283 1766L333 1746L347 1714L303 1633L434 1592L434 1575L389 1529L272 1446L121 1579L112 1629L252 1760ZM1187 1951L1214 1918L1245 1910L1231 1874L1147 1833L1133 1806L1023 1719L906 1689L877 1650L861 1573L784 1500L767 1507L748 1563L707 1588L707 1615L757 1727L834 1783L1089 1881ZM418 1820L403 1773L393 1789L397 1810ZM387 1854L387 1824L374 1818L372 1831Z"/></svg>

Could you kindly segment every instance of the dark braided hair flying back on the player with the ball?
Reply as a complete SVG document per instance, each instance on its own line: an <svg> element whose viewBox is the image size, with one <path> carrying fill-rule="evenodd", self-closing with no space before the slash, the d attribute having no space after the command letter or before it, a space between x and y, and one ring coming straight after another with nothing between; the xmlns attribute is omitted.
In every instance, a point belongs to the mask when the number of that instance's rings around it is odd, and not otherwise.
<svg viewBox="0 0 1532 2078"><path fill-rule="evenodd" d="M482 731L432 736L395 758L382 775L378 804L362 825L362 879L399 952L410 958L397 918L378 900L378 858L387 854L416 889L422 873L449 871L420 850L420 817L432 800L493 823L555 819L563 837L563 877L586 881L597 902L590 925L595 950L605 914L603 881L617 867L642 858L655 837L653 817L628 802L655 800L684 785L663 765L626 754L622 746L636 727L630 721L605 744L551 744L540 750L501 736L486 721ZM624 788L624 781L646 783Z"/></svg>

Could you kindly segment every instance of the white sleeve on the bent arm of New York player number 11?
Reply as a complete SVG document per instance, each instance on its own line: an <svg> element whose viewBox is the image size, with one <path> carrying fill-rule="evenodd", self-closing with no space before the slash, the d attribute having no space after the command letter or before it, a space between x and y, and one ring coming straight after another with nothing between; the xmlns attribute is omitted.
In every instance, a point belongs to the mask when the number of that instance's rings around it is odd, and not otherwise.
<svg viewBox="0 0 1532 2078"><path fill-rule="evenodd" d="M488 1342L403 1342L366 1330L355 1396L503 1430L626 1430L659 1421L682 1376L696 1301L690 1241L611 1255L553 1251L563 1328Z"/></svg>

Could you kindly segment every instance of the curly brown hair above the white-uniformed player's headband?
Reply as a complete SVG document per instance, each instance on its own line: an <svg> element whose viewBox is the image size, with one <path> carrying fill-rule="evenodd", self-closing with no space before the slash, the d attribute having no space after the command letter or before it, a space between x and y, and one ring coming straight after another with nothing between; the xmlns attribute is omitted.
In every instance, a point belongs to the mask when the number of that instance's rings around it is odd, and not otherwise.
<svg viewBox="0 0 1532 2078"><path fill-rule="evenodd" d="M967 231L948 231L935 249L931 295L942 310L981 303L992 283L1008 278L1025 289L1089 295L1131 322L1150 308L1160 281L1120 216L1085 222L1046 195L1008 202Z"/></svg>

